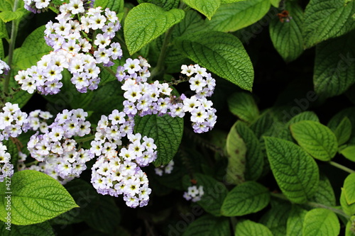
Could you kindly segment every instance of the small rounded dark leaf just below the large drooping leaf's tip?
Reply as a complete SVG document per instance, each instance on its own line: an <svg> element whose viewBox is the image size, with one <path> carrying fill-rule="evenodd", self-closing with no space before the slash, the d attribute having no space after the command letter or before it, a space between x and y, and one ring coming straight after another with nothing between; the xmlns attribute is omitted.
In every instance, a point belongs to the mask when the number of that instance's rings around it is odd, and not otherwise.
<svg viewBox="0 0 355 236"><path fill-rule="evenodd" d="M253 123L259 116L258 106L250 93L240 91L228 98L229 111L247 123Z"/></svg>

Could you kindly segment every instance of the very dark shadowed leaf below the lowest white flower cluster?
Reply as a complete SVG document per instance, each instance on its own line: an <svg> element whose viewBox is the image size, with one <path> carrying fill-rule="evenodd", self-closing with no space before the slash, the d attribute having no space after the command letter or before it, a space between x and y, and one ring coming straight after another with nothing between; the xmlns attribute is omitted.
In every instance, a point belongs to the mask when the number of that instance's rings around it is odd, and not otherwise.
<svg viewBox="0 0 355 236"><path fill-rule="evenodd" d="M87 215L85 222L90 227L109 235L118 232L119 223L121 221L121 211L116 206L114 198L110 196L98 196L95 208L90 215Z"/></svg>

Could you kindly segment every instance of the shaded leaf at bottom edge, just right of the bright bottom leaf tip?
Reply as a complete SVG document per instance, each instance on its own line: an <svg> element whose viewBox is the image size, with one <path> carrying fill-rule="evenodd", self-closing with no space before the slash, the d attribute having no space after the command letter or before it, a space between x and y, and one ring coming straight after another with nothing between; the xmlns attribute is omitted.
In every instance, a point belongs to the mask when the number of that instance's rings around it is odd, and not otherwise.
<svg viewBox="0 0 355 236"><path fill-rule="evenodd" d="M271 210L269 210L260 219L260 223L266 225L274 236L285 236L288 215L290 214L291 205L286 203L278 203L271 201Z"/></svg>

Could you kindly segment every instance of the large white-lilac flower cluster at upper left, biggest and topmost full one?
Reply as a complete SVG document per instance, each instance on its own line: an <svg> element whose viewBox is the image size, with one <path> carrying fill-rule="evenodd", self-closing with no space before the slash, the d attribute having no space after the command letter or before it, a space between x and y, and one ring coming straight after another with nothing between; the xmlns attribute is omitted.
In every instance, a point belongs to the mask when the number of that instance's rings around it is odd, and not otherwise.
<svg viewBox="0 0 355 236"><path fill-rule="evenodd" d="M58 23L50 21L45 26L45 41L53 52L15 77L28 93L37 89L40 94L58 94L64 69L72 74L70 80L77 91L97 89L101 80L98 64L111 66L112 60L122 56L121 45L111 42L121 28L116 13L109 9L102 11L101 7L84 13L82 1L77 1L81 3L77 7L73 2L60 6ZM80 21L75 18L78 13L82 15Z"/></svg>

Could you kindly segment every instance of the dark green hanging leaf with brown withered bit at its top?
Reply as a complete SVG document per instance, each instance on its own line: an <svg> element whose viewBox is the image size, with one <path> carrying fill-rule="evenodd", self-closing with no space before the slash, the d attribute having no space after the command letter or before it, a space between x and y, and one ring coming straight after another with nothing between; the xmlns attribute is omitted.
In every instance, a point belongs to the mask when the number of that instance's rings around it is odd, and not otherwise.
<svg viewBox="0 0 355 236"><path fill-rule="evenodd" d="M295 1L286 1L290 21L281 22L272 18L269 26L271 41L285 62L296 60L303 52L302 24L303 11Z"/></svg>

